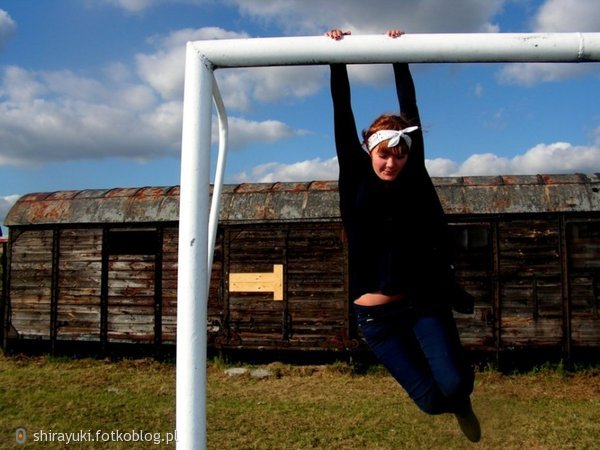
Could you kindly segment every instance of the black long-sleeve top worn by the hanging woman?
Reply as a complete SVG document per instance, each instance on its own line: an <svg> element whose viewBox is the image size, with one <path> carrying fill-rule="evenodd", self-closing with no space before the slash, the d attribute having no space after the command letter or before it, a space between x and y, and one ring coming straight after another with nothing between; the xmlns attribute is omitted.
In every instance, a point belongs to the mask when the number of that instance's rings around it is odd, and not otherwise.
<svg viewBox="0 0 600 450"><path fill-rule="evenodd" d="M375 174L362 149L345 65L331 65L340 211L349 251L350 300L365 293L408 294L422 304L441 299L450 268L446 219L425 168L423 132L408 64L394 64L402 114L411 133L408 160L394 181ZM437 287L436 287L437 286Z"/></svg>

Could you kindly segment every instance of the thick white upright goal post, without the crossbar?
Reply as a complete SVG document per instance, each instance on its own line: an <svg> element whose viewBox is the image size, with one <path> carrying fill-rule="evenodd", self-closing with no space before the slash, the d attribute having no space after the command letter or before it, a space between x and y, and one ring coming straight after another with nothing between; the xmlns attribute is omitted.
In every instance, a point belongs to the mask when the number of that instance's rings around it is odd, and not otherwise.
<svg viewBox="0 0 600 450"><path fill-rule="evenodd" d="M210 64L188 44L185 65L177 275L178 449L206 448Z"/></svg>

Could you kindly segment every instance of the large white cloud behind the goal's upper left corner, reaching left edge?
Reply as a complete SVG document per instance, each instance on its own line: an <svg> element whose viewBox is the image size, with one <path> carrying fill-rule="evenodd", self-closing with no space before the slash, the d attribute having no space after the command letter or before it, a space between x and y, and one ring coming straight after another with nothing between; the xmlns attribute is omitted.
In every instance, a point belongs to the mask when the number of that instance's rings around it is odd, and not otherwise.
<svg viewBox="0 0 600 450"><path fill-rule="evenodd" d="M5 67L0 74L0 165L115 156L150 160L178 154L185 42L240 37L246 35L214 27L154 36L150 41L156 52L136 57L139 78L122 63L108 64L105 79L69 70ZM316 80L321 74L311 73L315 72L247 70L225 76L222 90L226 102L232 103L227 106L236 109L257 99L274 101L285 95L312 93L319 87ZM247 104L236 104L240 98L246 98ZM229 122L233 149L305 133L275 120L230 117Z"/></svg>

